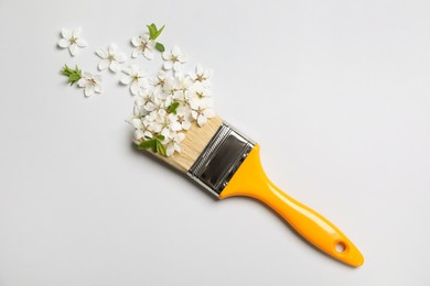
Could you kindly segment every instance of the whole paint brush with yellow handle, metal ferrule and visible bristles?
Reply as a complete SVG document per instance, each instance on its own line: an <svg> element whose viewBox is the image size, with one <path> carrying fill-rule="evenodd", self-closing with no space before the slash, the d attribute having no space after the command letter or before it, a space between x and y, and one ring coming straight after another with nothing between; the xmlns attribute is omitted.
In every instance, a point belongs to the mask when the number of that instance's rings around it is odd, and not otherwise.
<svg viewBox="0 0 430 286"><path fill-rule="evenodd" d="M149 152L218 199L233 196L257 199L330 256L355 267L364 263L358 249L333 223L267 178L260 164L259 145L219 117L207 120L202 128L192 127L181 146L180 153L169 157Z"/></svg>

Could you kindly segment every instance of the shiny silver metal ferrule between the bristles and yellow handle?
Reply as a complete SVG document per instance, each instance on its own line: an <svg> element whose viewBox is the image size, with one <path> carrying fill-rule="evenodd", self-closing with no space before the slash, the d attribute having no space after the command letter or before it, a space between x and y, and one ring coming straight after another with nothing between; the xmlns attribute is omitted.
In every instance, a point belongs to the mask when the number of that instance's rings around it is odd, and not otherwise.
<svg viewBox="0 0 430 286"><path fill-rule="evenodd" d="M255 144L223 122L186 175L218 197Z"/></svg>

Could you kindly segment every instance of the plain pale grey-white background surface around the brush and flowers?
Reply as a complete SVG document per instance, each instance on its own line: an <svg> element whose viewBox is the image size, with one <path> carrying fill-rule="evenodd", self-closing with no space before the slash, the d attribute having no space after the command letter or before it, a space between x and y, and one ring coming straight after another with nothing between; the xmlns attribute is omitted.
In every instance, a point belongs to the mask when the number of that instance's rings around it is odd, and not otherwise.
<svg viewBox="0 0 430 286"><path fill-rule="evenodd" d="M429 14L424 0L0 0L0 285L429 285ZM119 74L89 99L58 74L97 72L111 42L130 54L151 22L215 70L217 113L363 267L135 151ZM72 58L56 42L79 25L89 46Z"/></svg>

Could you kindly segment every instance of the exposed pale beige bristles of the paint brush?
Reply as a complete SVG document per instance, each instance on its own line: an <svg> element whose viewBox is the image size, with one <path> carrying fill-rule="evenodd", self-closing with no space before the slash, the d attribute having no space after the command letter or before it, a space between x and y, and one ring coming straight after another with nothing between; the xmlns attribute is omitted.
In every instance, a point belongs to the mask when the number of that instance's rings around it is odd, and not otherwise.
<svg viewBox="0 0 430 286"><path fill-rule="evenodd" d="M222 123L223 120L219 117L208 119L206 124L202 128L193 123L191 129L186 131L185 139L181 142L181 153L175 152L170 157L155 154L151 151L150 153L172 165L180 172L186 173L197 160L200 154L202 154L203 150L215 135Z"/></svg>

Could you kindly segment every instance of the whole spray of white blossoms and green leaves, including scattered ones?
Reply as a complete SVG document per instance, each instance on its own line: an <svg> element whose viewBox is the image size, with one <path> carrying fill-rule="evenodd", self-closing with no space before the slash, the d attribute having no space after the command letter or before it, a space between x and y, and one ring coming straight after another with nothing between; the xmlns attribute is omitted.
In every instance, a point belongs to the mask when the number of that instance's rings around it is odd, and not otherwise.
<svg viewBox="0 0 430 286"><path fill-rule="evenodd" d="M211 91L213 73L201 65L185 73L183 66L186 57L181 48L175 45L165 52L164 45L155 42L164 26L147 26L149 33L131 38L131 58L142 55L151 61L157 51L162 52L160 58L163 63L157 75L148 75L146 69L136 64L122 68L120 65L127 61L127 56L115 43L107 48L96 50L96 55L101 58L98 69L110 69L112 73L121 70L125 76L119 82L128 86L131 95L137 96L133 116L129 120L135 128L135 143L141 148L172 156L181 152L181 142L187 130L193 125L203 127L207 119L214 117ZM75 56L78 47L87 46L87 42L80 37L80 28L63 29L58 46L68 48L71 55ZM62 74L68 77L71 85L77 82L78 87L84 88L86 97L103 92L99 75L82 73L77 66L73 69L67 65Z"/></svg>

